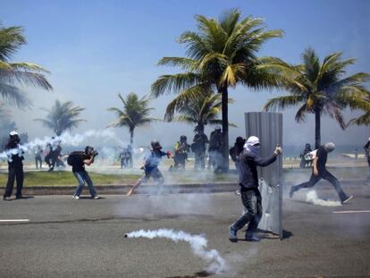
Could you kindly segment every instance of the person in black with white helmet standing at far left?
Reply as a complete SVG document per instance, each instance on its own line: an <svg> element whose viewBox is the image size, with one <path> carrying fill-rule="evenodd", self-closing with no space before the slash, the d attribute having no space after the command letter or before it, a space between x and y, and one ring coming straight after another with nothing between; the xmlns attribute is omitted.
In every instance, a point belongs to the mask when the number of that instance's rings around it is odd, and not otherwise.
<svg viewBox="0 0 370 278"><path fill-rule="evenodd" d="M23 188L23 151L20 147L21 139L17 131L9 133L9 140L6 143L5 151L8 156L8 182L4 192L4 200L10 200L12 196L14 181L17 179L17 192L15 198L22 198L21 190Z"/></svg>

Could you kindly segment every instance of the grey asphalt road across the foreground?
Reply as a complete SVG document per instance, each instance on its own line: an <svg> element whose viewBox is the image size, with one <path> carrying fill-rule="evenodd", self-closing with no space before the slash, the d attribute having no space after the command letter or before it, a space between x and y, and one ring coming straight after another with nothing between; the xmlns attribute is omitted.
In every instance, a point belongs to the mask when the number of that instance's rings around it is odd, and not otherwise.
<svg viewBox="0 0 370 278"><path fill-rule="evenodd" d="M345 206L284 198L284 240L261 234L253 243L228 240L241 213L232 193L105 199L43 196L0 201L0 277L208 277L207 264L186 242L125 239L126 232L170 228L203 234L226 260L226 277L370 277L370 187L345 189ZM329 187L318 195L335 198ZM300 199L300 200L299 200Z"/></svg>

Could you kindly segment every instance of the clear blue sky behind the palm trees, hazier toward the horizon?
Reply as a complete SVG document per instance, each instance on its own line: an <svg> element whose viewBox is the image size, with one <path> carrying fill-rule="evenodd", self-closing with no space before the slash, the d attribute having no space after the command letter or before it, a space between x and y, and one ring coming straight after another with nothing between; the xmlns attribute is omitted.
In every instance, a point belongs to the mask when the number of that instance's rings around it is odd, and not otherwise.
<svg viewBox="0 0 370 278"><path fill-rule="evenodd" d="M348 74L370 72L370 1L366 0L228 0L228 1L96 1L96 0L1 0L0 21L4 26L23 26L28 45L13 62L38 63L51 72L48 80L53 92L24 88L33 101L31 109L10 107L20 131L30 139L51 135L51 131L33 119L43 117L41 107L50 107L56 99L71 100L86 107L81 117L88 120L72 132L102 130L114 121L108 107L121 105L117 94L150 93L151 84L161 75L176 69L158 66L164 56L184 56L185 47L176 42L186 30L196 30L194 15L217 18L223 11L239 8L243 16L262 17L268 29L282 29L283 38L267 42L258 53L300 63L307 47L315 48L323 58L332 52L357 58ZM368 86L369 84L367 84ZM244 113L261 111L265 101L285 94L283 91L230 90L231 143L245 135ZM163 118L166 105L174 95L151 102L153 115ZM294 109L283 111L283 144L314 145L315 119L294 121ZM349 120L358 112L346 111ZM209 134L213 127L207 127ZM129 141L129 131L116 129L117 136ZM160 139L172 145L185 134L193 137L193 127L184 123L158 122L135 131L136 145L148 145ZM350 127L341 131L332 119L323 118L322 140L339 145L363 145L370 137L369 127Z"/></svg>

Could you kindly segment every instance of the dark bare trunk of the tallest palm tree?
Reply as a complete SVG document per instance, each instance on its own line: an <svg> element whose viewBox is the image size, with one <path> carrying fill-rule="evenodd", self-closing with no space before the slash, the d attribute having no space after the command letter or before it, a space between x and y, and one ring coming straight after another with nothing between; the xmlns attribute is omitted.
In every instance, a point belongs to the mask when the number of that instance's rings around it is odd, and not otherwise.
<svg viewBox="0 0 370 278"><path fill-rule="evenodd" d="M229 171L229 93L227 88L221 88L223 114L223 171Z"/></svg>

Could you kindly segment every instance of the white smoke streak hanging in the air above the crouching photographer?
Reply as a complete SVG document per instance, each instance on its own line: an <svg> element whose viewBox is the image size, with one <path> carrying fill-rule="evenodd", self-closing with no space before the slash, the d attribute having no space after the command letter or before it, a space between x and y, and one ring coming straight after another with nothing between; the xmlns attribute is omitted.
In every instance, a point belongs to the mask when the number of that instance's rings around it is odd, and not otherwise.
<svg viewBox="0 0 370 278"><path fill-rule="evenodd" d="M0 153L0 158L6 158L11 162L11 157L13 155L19 155L22 156L22 153L31 153L34 151L37 147L42 147L43 149L46 148L47 145L50 144L50 146L55 149L55 147L59 144L59 142L62 142L64 146L72 146L77 147L82 142L84 142L88 138L95 138L95 139L112 139L115 142L119 143L120 145L123 144L123 142L117 138L117 136L114 134L114 131L111 130L104 130L104 131L95 131L90 130L86 131L82 134L74 134L71 135L68 131L64 132L61 136L55 136L52 137L44 137L44 139L34 139L28 143L21 144L17 148L12 148L5 150L4 152Z"/></svg>

